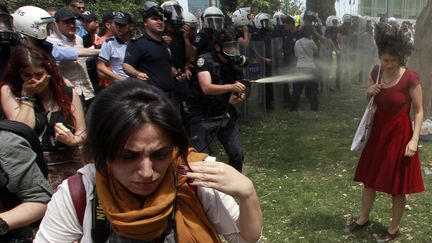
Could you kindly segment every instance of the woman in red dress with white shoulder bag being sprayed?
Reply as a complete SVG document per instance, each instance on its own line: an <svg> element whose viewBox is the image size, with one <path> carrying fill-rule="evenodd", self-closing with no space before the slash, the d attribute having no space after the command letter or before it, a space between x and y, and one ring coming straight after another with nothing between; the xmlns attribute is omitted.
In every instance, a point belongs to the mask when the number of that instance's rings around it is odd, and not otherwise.
<svg viewBox="0 0 432 243"><path fill-rule="evenodd" d="M387 231L378 235L377 242L387 242L400 234L406 194L424 191L417 151L423 98L418 74L404 67L413 49L410 40L394 27L378 24L375 42L381 74L376 84L378 67L372 70L367 99L374 96L377 110L354 176L355 181L364 184L360 215L345 231L354 232L368 225L376 192L385 192L392 196L392 219Z"/></svg>

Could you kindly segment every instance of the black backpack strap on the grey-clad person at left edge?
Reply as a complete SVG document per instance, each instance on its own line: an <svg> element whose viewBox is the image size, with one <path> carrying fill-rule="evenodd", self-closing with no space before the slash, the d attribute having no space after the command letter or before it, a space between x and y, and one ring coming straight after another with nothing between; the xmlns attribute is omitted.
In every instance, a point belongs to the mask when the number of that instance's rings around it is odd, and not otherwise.
<svg viewBox="0 0 432 243"><path fill-rule="evenodd" d="M45 178L48 178L48 166L45 163L42 146L34 130L22 122L11 120L0 120L0 130L8 131L23 137L30 143L31 148L36 153L36 163Z"/></svg>

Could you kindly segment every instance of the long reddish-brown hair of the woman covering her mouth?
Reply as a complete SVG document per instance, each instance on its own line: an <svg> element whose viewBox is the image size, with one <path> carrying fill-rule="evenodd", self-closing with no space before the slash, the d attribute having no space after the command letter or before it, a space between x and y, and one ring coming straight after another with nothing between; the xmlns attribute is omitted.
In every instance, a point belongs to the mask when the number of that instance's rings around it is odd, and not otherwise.
<svg viewBox="0 0 432 243"><path fill-rule="evenodd" d="M0 83L0 87L6 84L16 97L21 97L24 83L21 79L21 72L30 66L43 68L48 72L51 76L48 88L55 103L61 107L63 116L65 118L70 117L75 123L71 101L68 99L68 95L63 89L63 86L65 86L64 79L60 75L56 63L41 50L25 46L15 47L9 58L9 64L4 73L3 81Z"/></svg>

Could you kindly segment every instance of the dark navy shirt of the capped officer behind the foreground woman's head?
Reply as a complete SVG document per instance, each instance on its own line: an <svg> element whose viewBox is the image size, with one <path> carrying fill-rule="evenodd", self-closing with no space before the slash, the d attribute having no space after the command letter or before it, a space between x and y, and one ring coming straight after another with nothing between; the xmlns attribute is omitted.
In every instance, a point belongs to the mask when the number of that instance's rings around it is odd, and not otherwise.
<svg viewBox="0 0 432 243"><path fill-rule="evenodd" d="M124 63L146 73L150 78L149 83L163 90L168 97L173 95L171 53L164 41L155 40L146 33L131 40L126 48Z"/></svg>

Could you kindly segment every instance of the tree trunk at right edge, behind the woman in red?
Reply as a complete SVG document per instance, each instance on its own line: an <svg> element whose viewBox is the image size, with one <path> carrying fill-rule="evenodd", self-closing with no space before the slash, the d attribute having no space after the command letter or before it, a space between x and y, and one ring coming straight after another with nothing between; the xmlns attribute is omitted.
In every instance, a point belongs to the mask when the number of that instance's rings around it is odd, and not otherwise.
<svg viewBox="0 0 432 243"><path fill-rule="evenodd" d="M416 22L414 37L414 52L409 60L408 67L420 74L423 89L423 106L425 118L432 112L432 0L423 8Z"/></svg>

